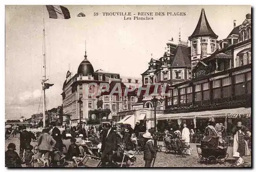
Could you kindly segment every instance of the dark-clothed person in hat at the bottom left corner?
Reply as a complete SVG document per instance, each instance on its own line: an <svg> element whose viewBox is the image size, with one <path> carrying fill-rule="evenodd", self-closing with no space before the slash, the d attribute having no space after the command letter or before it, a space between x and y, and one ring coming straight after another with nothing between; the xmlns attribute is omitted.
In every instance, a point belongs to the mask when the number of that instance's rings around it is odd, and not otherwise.
<svg viewBox="0 0 256 172"><path fill-rule="evenodd" d="M14 143L8 144L8 150L5 152L5 166L6 167L22 167L22 160L15 152L16 145Z"/></svg>

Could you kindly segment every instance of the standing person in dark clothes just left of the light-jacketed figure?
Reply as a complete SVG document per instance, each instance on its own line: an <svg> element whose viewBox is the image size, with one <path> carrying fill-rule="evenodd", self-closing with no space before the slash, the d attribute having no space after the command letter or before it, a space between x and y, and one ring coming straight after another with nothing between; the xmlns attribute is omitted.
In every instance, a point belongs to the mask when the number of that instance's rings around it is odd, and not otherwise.
<svg viewBox="0 0 256 172"><path fill-rule="evenodd" d="M31 139L36 139L35 135L27 130L23 130L19 135L19 157L23 158L24 150L30 145Z"/></svg>

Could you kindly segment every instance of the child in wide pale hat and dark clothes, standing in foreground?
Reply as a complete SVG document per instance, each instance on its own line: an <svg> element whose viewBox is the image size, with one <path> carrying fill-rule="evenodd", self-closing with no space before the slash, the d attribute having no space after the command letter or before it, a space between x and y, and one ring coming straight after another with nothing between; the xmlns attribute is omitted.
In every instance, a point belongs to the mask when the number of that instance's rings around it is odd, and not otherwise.
<svg viewBox="0 0 256 172"><path fill-rule="evenodd" d="M144 133L142 136L146 139L143 158L145 161L145 167L151 167L152 160L155 158L154 141L152 140L152 136L149 132Z"/></svg>

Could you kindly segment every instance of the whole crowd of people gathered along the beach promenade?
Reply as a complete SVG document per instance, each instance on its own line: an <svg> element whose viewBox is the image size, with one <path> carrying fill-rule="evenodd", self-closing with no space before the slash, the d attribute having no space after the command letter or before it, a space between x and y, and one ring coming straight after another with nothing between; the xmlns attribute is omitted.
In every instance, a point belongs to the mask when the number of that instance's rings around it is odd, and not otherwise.
<svg viewBox="0 0 256 172"><path fill-rule="evenodd" d="M88 153L96 155L101 158L102 166L114 166L115 160L118 154L120 143L125 143L127 151L134 153L136 146L138 146L138 138L143 137L143 151L145 167L149 167L152 164L153 159L156 156L156 146L154 145L154 139L162 138L161 141L170 141L171 138L179 138L188 147L188 155L191 155L189 143L191 137L197 134L203 134L205 136L218 136L219 141L223 142L223 133L225 127L223 124L214 121L208 121L208 125L204 132L194 131L194 129L188 129L186 124L182 126L165 129L164 132L154 129L146 129L144 124L136 123L133 129L130 125L120 126L106 124L99 127L73 127L66 128L62 133L52 124L49 128L42 130L40 135L35 135L32 132L23 130L20 132L19 143L19 155L15 152L16 145L10 143L8 150L6 151L6 166L7 167L20 167L22 164L26 164L28 167L34 166L34 160L42 162L45 167L55 166L58 163L55 162L54 154L58 153L58 160L65 157L66 160L74 162L75 166L79 166L79 161L82 157ZM143 133L140 136L140 133ZM242 157L249 155L248 140L251 133L248 128L242 125L242 122L238 122L237 126L232 129L234 135L233 157L237 157L237 163L242 164ZM98 151L92 152L89 149L89 138L95 138L99 140L96 147ZM38 154L34 155L33 146L31 145L32 139L37 140ZM130 152L130 153L131 153ZM131 154L132 154L131 153ZM51 162L49 161L51 157ZM120 157L119 157L120 158Z"/></svg>

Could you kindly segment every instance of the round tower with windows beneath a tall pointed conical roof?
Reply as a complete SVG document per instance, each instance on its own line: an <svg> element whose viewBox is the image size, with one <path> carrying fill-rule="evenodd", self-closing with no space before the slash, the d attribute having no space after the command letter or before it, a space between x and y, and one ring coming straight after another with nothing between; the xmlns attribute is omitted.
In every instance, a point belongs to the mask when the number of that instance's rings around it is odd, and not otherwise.
<svg viewBox="0 0 256 172"><path fill-rule="evenodd" d="M193 34L188 37L191 45L191 67L195 67L200 59L209 57L216 51L218 35L212 31L202 9L197 27Z"/></svg>

